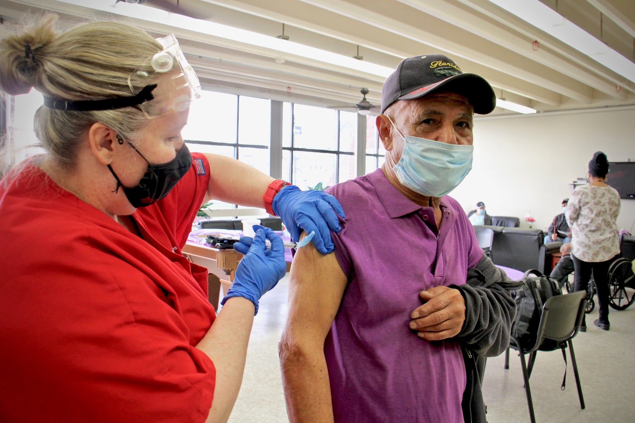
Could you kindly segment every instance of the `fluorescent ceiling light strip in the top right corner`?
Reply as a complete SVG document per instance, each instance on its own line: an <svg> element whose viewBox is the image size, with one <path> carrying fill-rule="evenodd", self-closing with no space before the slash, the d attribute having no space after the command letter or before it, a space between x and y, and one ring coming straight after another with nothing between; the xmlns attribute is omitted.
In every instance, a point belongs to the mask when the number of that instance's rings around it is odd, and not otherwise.
<svg viewBox="0 0 635 423"><path fill-rule="evenodd" d="M574 25L539 0L490 0L547 34L558 38L596 62L635 82L635 63Z"/></svg>

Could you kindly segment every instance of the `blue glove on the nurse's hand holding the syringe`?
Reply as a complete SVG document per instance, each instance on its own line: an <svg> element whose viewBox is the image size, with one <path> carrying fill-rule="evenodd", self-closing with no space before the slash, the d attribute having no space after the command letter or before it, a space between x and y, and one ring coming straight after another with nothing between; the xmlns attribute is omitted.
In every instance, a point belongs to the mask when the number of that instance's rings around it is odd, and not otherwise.
<svg viewBox="0 0 635 423"><path fill-rule="evenodd" d="M234 249L245 256L238 263L236 277L221 305L231 297L245 297L253 303L255 316L258 313L258 300L265 292L276 286L286 273L284 244L270 228L253 225L256 236L241 237ZM265 249L265 239L271 241L271 249Z"/></svg>

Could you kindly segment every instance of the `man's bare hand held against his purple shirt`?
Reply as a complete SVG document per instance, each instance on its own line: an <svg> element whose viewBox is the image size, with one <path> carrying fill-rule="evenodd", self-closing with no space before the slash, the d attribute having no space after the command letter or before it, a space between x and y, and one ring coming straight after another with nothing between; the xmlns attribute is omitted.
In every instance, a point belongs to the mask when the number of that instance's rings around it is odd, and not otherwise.
<svg viewBox="0 0 635 423"><path fill-rule="evenodd" d="M461 331L465 322L465 300L458 289L443 285L419 292L426 303L412 312L410 329L427 341L448 339Z"/></svg>

